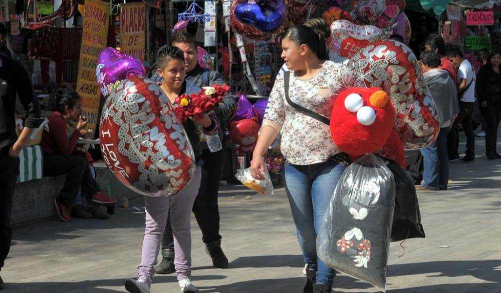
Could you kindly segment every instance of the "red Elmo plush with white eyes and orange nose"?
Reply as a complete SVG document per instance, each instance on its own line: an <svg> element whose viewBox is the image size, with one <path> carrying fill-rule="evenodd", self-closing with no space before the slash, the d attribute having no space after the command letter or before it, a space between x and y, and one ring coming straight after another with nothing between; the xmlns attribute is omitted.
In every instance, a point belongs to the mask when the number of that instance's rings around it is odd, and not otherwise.
<svg viewBox="0 0 501 293"><path fill-rule="evenodd" d="M334 143L352 160L376 152L405 168L405 153L393 130L395 108L388 94L377 87L350 88L341 92L331 114Z"/></svg>

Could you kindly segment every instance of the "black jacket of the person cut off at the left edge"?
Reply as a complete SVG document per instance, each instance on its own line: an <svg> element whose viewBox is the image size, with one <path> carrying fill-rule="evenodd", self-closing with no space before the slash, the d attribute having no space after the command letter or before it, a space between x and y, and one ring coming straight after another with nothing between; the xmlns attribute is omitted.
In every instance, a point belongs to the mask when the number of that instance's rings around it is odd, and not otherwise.
<svg viewBox="0 0 501 293"><path fill-rule="evenodd" d="M25 127L37 128L40 104L34 95L30 76L23 64L0 55L0 157L5 157L16 142L16 94L26 110Z"/></svg>

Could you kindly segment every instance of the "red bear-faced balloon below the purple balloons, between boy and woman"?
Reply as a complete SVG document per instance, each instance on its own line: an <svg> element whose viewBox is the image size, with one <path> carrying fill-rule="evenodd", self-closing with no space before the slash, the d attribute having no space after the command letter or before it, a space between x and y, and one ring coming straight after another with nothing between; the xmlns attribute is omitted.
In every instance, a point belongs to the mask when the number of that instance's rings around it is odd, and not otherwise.
<svg viewBox="0 0 501 293"><path fill-rule="evenodd" d="M261 124L258 117L231 122L230 137L234 143L238 144L240 154L254 150L258 141L259 128Z"/></svg>

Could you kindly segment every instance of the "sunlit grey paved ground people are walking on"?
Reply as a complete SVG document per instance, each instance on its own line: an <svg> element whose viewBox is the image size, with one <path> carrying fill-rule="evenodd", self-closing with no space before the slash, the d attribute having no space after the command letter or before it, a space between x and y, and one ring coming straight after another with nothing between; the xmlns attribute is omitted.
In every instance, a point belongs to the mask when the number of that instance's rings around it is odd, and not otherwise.
<svg viewBox="0 0 501 293"><path fill-rule="evenodd" d="M409 239L404 248L392 243L388 292L501 292L501 159L487 160L483 152L477 138L474 163L450 164L449 190L418 193L427 237ZM230 264L211 266L192 217L192 280L200 291L302 292L306 277L284 189L267 197L224 186L219 202ZM108 220L18 227L2 270L5 292L125 292L124 279L135 276L140 261L143 231L144 212L131 209ZM178 291L174 274L155 276L152 292ZM338 274L334 291L378 290Z"/></svg>

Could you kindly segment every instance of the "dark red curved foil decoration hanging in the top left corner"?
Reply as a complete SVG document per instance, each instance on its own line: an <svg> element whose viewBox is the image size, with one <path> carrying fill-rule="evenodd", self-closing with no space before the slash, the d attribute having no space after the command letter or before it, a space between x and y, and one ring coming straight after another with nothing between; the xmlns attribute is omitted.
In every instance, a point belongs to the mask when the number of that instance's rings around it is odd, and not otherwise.
<svg viewBox="0 0 501 293"><path fill-rule="evenodd" d="M77 3L75 1L63 0L61 6L56 11L54 11L54 13L30 20L28 15L31 14L31 11L33 11L33 5L35 5L35 1L36 0L28 0L26 4L26 9L25 11L23 11L23 15L21 17L21 23L23 27L36 29L43 26L51 26L52 22L56 18L64 18L66 20L72 17L77 12ZM107 17L107 15L108 14L98 16Z"/></svg>

